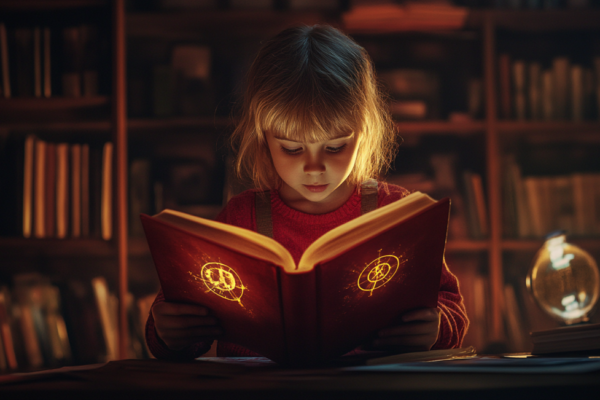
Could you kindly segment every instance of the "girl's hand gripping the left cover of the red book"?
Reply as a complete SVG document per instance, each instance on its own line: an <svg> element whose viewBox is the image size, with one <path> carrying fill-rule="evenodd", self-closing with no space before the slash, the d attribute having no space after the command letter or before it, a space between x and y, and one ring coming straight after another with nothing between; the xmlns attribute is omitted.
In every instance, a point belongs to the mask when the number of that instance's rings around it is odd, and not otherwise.
<svg viewBox="0 0 600 400"><path fill-rule="evenodd" d="M156 303L152 307L156 333L174 351L201 342L212 342L223 333L206 307L184 303Z"/></svg>

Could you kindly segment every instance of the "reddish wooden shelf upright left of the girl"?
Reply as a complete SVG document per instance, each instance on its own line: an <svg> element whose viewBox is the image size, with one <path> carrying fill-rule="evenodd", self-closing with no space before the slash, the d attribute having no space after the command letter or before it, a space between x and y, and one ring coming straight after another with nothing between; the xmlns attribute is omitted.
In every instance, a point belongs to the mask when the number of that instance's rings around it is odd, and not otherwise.
<svg viewBox="0 0 600 400"><path fill-rule="evenodd" d="M119 268L119 358L127 358L127 87L125 4L113 0L113 142L115 144L115 238Z"/></svg>

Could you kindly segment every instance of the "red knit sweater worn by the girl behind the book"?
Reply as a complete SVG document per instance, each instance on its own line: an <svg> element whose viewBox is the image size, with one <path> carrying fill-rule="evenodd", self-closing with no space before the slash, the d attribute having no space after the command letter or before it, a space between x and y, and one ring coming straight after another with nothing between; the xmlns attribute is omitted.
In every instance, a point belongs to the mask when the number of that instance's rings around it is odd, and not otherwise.
<svg viewBox="0 0 600 400"><path fill-rule="evenodd" d="M406 196L409 192L399 186L379 183L377 207L390 204ZM288 207L277 191L271 192L273 238L292 254L297 263L306 248L331 229L360 216L361 196L354 193L348 201L335 211L327 214L306 214ZM218 221L256 231L254 191L248 190L233 197L217 217ZM162 291L154 303L164 301ZM458 281L444 263L438 294L438 308L441 314L440 331L433 348L460 347L467 332L467 319ZM199 342L182 351L169 350L156 334L152 313L146 323L146 342L152 354L163 359L193 359L210 349L211 343ZM218 356L258 356L243 347L218 342Z"/></svg>

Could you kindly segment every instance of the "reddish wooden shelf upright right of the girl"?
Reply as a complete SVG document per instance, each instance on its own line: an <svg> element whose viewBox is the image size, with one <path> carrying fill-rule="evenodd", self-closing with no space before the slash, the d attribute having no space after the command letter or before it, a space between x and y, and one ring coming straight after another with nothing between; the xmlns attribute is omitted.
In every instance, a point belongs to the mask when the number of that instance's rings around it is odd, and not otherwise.
<svg viewBox="0 0 600 400"><path fill-rule="evenodd" d="M491 294L490 342L504 342L502 313L504 311L504 274L502 272L502 204L500 193L500 157L498 143L498 116L496 114L495 85L495 23L488 11L483 19L483 69L485 76L485 135L488 204L490 214L489 285Z"/></svg>

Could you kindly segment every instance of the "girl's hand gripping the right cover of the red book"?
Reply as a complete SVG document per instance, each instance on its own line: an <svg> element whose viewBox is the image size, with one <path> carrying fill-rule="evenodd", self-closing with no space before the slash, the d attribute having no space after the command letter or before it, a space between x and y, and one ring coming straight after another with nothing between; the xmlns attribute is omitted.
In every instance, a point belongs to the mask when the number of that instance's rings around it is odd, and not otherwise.
<svg viewBox="0 0 600 400"><path fill-rule="evenodd" d="M437 341L440 330L440 311L420 308L400 317L399 325L382 329L373 340L373 350L393 352L426 351Z"/></svg>

